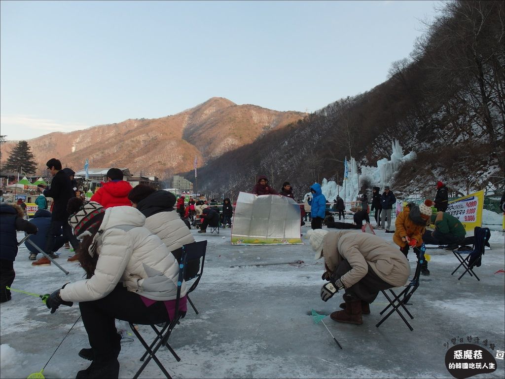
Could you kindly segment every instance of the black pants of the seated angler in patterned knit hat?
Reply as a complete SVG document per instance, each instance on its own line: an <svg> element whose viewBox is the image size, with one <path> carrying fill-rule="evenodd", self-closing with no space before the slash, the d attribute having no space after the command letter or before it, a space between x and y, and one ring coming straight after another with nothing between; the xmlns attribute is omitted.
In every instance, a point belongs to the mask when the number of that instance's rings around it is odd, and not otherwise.
<svg viewBox="0 0 505 379"><path fill-rule="evenodd" d="M118 343L115 319L135 324L158 324L169 321L165 304L161 301L146 307L140 296L128 292L122 283L105 298L79 303L82 322L88 334L89 345L97 360L113 357Z"/></svg>

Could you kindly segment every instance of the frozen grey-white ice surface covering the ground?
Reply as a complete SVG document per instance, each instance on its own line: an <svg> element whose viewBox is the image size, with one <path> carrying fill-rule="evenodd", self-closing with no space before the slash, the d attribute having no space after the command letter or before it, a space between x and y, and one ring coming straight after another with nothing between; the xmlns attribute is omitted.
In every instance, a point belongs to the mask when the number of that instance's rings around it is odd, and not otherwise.
<svg viewBox="0 0 505 379"><path fill-rule="evenodd" d="M469 275L458 281L450 275L458 263L452 253L429 251L431 275L421 277L409 308L415 317L409 320L414 331L396 314L379 328L375 326L386 301L381 294L371 305L371 314L363 316L363 325L341 324L326 317L324 322L343 347L340 350L324 325L315 324L310 315L312 309L324 315L338 310L342 296L336 294L326 303L320 299L323 262L314 261L305 238L308 230L302 227L306 245L290 246L232 246L230 229L205 236L191 230L197 241L207 239L209 245L204 276L191 294L200 313L188 309L170 340L181 361L176 362L166 350L158 354L174 378L449 378L444 344L450 344L451 338L479 337L494 343L495 350L505 350L504 274L495 274L505 265L500 232L492 232L492 250L486 251L482 266L476 269L481 281ZM392 240L392 234L383 230L376 233ZM28 251L20 248L13 288L43 294L81 279L82 269L66 261L68 250L59 252L59 263L70 271L68 276L55 266L32 267ZM412 256L410 259L414 269ZM254 266L297 260L305 263ZM39 299L13 293L13 299L0 306L0 376L27 377L40 371L78 317L77 304L50 314ZM125 337L131 338L128 328L121 326L126 329ZM148 333L148 327L140 327ZM120 377L133 376L143 352L138 341L127 341L119 356ZM75 377L89 365L77 355L83 347L89 345L79 321L44 370L46 377ZM502 360L497 360L497 367L486 377L503 377ZM163 375L151 362L142 377Z"/></svg>

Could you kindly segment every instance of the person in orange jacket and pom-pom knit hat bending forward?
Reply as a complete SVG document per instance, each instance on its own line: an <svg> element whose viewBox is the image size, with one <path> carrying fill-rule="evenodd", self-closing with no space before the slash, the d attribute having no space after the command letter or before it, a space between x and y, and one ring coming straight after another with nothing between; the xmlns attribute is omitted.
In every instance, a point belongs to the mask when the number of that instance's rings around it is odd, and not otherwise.
<svg viewBox="0 0 505 379"><path fill-rule="evenodd" d="M420 248L423 244L423 234L426 231L426 225L430 221L432 205L431 200L426 200L419 206L409 203L396 216L394 223L396 230L394 231L393 242L400 247L400 251L406 257L410 247ZM423 275L430 274L426 259L423 259L421 273Z"/></svg>

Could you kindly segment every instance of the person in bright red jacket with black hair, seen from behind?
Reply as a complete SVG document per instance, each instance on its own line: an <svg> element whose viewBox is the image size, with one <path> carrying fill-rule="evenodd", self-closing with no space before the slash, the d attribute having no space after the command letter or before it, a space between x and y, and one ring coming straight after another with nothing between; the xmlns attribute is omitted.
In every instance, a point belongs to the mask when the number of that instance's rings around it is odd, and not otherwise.
<svg viewBox="0 0 505 379"><path fill-rule="evenodd" d="M131 184L123 180L123 171L119 168L111 168L107 171L107 181L102 183L102 187L91 196L90 201L94 201L105 209L122 205L131 206L128 194L131 191Z"/></svg>

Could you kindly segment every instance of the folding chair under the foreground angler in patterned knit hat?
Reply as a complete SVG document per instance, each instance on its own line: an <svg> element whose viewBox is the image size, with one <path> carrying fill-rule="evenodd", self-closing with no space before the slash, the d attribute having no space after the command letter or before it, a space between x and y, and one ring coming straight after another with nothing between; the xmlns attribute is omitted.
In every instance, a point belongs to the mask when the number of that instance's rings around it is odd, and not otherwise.
<svg viewBox="0 0 505 379"><path fill-rule="evenodd" d="M156 353L164 345L172 353L172 355L178 362L181 360L181 358L179 358L179 356L175 353L175 351L168 343L168 339L170 338L174 327L180 322L181 318L185 314L185 312L179 310L179 302L181 299L182 281L186 274L186 268L188 266L188 262L194 261L196 259L199 260L200 257L205 256L206 248L207 248L207 241L194 242L192 244L182 246L182 256L181 256L181 262L179 264L179 276L177 279L177 297L175 299L175 310L174 310L175 316L173 320L170 320L170 322L165 322L161 325L154 325L154 324L149 325L156 333L156 337L150 345L147 345L145 340L140 335L140 332L135 328L135 325L130 322L131 330L138 338L142 346L145 348L145 353L140 358L140 361L143 361L143 363L138 369L138 371L135 373L135 376L133 376L134 379L138 378L138 376L142 373L145 366L147 366L147 363L149 363L151 359L153 359L156 362L158 367L160 367L160 370L162 370L162 372L168 379L172 378L168 373L168 371L163 366L163 364L160 362L158 357L156 356ZM159 327L161 327L161 329L159 329ZM145 357L147 357L147 359L145 359Z"/></svg>

